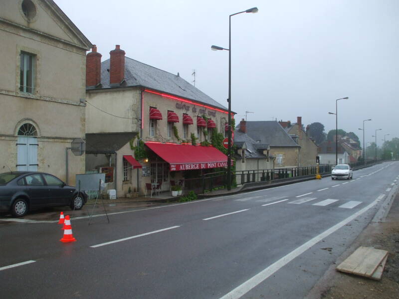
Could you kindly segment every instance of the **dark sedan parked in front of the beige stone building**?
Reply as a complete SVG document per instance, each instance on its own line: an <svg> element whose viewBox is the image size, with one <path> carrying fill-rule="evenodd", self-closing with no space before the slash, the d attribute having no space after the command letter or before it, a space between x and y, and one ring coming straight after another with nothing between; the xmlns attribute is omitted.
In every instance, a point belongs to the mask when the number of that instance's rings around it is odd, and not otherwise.
<svg viewBox="0 0 399 299"><path fill-rule="evenodd" d="M86 193L78 192L49 173L0 173L0 212L10 212L15 217L40 207L70 206L80 210L86 201Z"/></svg>

